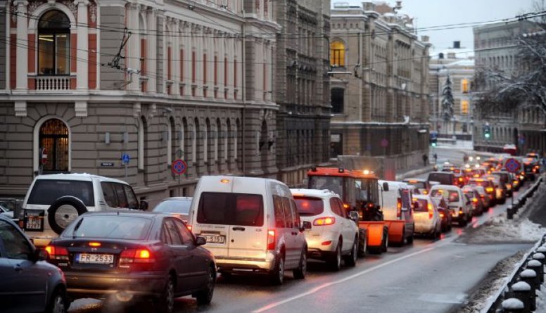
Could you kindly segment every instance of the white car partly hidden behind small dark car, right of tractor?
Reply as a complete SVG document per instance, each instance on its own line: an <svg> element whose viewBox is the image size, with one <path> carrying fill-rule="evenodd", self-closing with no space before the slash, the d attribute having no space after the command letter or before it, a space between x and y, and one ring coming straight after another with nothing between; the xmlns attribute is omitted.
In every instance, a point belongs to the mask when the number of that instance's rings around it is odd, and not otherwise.
<svg viewBox="0 0 546 313"><path fill-rule="evenodd" d="M442 196L453 208L453 222L466 226L472 219L472 205L457 186L436 185L431 188L431 197Z"/></svg>

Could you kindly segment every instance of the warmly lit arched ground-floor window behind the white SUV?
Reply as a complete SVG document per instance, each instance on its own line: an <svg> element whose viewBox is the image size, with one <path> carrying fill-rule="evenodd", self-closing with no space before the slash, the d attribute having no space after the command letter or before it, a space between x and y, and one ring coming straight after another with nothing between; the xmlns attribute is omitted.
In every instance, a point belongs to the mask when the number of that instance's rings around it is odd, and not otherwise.
<svg viewBox="0 0 546 313"><path fill-rule="evenodd" d="M39 158L44 158L44 172L68 172L68 127L61 120L47 120L40 127L39 148L43 151ZM44 149L44 150L42 150Z"/></svg>

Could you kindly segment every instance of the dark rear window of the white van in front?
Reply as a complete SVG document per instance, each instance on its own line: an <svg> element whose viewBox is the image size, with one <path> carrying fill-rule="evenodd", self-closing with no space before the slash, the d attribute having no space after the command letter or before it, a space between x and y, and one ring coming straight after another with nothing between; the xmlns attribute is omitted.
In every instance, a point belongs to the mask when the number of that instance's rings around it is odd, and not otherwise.
<svg viewBox="0 0 546 313"><path fill-rule="evenodd" d="M199 199L197 222L200 224L262 226L262 195L250 193L204 192Z"/></svg>

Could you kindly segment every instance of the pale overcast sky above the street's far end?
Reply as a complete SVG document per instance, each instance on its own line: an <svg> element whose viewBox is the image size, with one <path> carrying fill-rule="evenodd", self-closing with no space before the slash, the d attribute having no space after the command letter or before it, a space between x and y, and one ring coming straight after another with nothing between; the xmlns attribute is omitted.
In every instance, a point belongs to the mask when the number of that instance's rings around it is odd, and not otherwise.
<svg viewBox="0 0 546 313"><path fill-rule="evenodd" d="M414 17L417 28L458 23L475 23L489 20L502 20L533 11L535 2L545 0L403 0L402 13ZM352 6L360 6L362 1L331 0L348 2ZM393 6L395 1L384 1ZM546 1L545 1L546 3ZM419 38L426 34L431 37L433 49L443 50L453 45L453 41L461 41L461 46L474 49L472 27L455 28L451 30L418 30Z"/></svg>

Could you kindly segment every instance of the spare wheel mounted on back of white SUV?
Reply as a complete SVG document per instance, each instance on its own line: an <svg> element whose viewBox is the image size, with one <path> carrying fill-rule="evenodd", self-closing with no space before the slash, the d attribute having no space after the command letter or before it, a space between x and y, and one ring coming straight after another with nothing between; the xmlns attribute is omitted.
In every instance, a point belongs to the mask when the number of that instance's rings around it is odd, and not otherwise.
<svg viewBox="0 0 546 313"><path fill-rule="evenodd" d="M74 219L87 212L81 200L74 197L58 198L47 210L47 220L56 234L61 234Z"/></svg>

